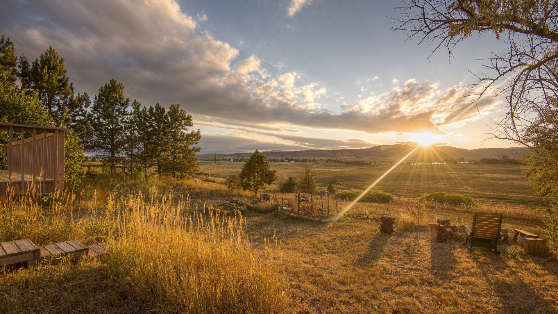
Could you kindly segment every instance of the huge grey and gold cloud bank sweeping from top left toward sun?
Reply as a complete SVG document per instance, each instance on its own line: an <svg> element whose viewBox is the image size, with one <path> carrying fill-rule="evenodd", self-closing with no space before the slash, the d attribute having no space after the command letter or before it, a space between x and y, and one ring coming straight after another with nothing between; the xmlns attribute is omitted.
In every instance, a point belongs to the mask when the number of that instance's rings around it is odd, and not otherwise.
<svg viewBox="0 0 558 314"><path fill-rule="evenodd" d="M296 12L307 3L291 6ZM35 59L54 46L66 59L76 92L95 94L114 77L126 96L147 106L180 103L214 123L412 132L474 120L477 107L487 112L497 102L486 97L475 107L463 96L463 85L441 90L435 82L393 79L388 91L345 100L333 111L324 103L325 86L304 82L296 72L270 72L256 55L240 56L199 30L198 20L172 0L22 0L0 10L0 28L15 42L16 53Z"/></svg>

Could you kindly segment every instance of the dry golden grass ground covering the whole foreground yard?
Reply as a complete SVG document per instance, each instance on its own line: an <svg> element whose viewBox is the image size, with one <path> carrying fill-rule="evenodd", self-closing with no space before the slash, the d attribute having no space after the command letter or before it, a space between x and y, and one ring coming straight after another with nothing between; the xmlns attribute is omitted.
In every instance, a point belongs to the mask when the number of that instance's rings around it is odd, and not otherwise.
<svg viewBox="0 0 558 314"><path fill-rule="evenodd" d="M95 185L93 194L91 184ZM117 185L119 192L114 192ZM420 225L414 230L396 229L386 235L379 233L378 221L355 218L320 224L248 211L242 222L239 217L231 217L228 223L213 223L210 217L199 215L203 207L234 198L219 183L95 178L88 179L84 187L84 194L90 195L79 205L86 214L84 218L69 215L78 201L73 205L51 202L42 214L21 204L20 216L2 213L0 237L26 236L37 244L70 238L102 241L108 237L118 251L110 251L104 259L2 270L0 312L174 313L176 308L189 305L191 298L199 298L204 305L216 304L208 313L225 312L227 308L236 309L229 311L232 313L247 313L242 306L234 307L242 300L248 300L251 308L259 306L258 313L558 312L555 255L536 258L519 249L516 256L515 244L499 246L503 254L498 256L482 249L469 253L461 242L430 242L426 227L436 217L449 217L452 224L472 223L473 211L483 210L503 212L503 226L510 230L541 234L542 217L537 211L426 204ZM133 191L145 193L143 201L131 197ZM186 200L189 191L203 198L189 204L165 203L160 198L168 192L173 193L171 199ZM338 205L344 208L347 203ZM416 206L419 204L411 199L399 200L391 204L391 215L400 219ZM120 207L122 210L111 209ZM17 206L11 208L11 212L17 211ZM357 203L349 213L379 217L386 213L386 206ZM202 227L191 229L191 221L199 221L196 223ZM34 228L40 232L31 233ZM18 230L24 234L17 234ZM185 254L193 254L191 263ZM251 260L255 264L247 262ZM196 274L196 269L200 273ZM224 277L214 277L213 273ZM232 277L228 278L228 273ZM193 274L195 280L186 280L185 274ZM215 294L223 286L213 283L232 283L239 276L247 276L242 280L260 280L259 284L277 284L273 287L281 287L282 292L266 290L271 291L267 296L282 296L281 302L258 304L253 291L237 289L234 291L240 294L233 298L223 294L219 303ZM262 282L261 278L267 279ZM190 283L204 291L203 296L174 293L190 287ZM242 286L240 282L234 285ZM222 310L215 311L219 308Z"/></svg>

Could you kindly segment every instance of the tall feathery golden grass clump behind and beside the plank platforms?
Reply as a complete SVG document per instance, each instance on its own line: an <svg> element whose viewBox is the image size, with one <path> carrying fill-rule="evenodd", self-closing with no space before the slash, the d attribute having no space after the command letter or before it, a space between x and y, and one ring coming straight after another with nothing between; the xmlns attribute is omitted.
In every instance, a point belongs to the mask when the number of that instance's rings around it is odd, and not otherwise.
<svg viewBox="0 0 558 314"><path fill-rule="evenodd" d="M272 244L254 250L240 213L208 216L172 193L147 201L141 192L119 195L117 186L105 200L97 193L81 199L81 216L73 212L72 193L54 193L42 203L36 193L10 197L1 208L0 240L109 242L104 264L110 287L150 310L286 311L282 277L266 258Z"/></svg>

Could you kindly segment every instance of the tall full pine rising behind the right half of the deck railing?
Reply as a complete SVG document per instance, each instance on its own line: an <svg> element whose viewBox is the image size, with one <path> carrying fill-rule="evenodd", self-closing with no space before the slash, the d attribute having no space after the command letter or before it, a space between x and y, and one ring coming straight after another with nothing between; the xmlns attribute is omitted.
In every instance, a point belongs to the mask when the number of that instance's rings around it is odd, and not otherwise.
<svg viewBox="0 0 558 314"><path fill-rule="evenodd" d="M74 95L73 83L68 83L66 77L64 61L56 49L49 46L49 50L33 61L32 89L39 92L43 107L56 124L68 125L81 134L84 132L81 118L85 116L85 108L89 107L89 96L86 93Z"/></svg>

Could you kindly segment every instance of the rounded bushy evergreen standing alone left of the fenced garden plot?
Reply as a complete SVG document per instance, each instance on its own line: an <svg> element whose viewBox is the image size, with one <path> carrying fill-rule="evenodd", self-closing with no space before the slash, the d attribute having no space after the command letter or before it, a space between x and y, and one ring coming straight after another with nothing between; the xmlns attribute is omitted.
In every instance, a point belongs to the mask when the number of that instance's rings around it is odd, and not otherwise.
<svg viewBox="0 0 558 314"><path fill-rule="evenodd" d="M244 191L252 191L257 194L258 189L263 189L266 184L275 181L276 172L277 170L271 170L271 163L267 160L266 155L256 150L242 166L242 172L239 175L242 180L242 188Z"/></svg>

